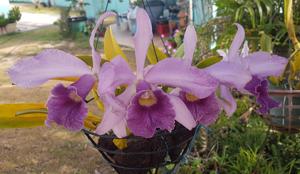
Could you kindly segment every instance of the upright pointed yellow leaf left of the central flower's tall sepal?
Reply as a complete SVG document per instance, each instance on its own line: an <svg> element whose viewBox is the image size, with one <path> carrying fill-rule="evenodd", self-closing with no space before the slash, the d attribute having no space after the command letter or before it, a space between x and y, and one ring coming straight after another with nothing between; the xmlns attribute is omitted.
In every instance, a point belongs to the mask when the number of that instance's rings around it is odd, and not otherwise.
<svg viewBox="0 0 300 174"><path fill-rule="evenodd" d="M106 60L112 60L116 56L120 55L123 59L128 61L126 55L122 51L121 47L115 39L111 27L109 27L104 35L104 55Z"/></svg>

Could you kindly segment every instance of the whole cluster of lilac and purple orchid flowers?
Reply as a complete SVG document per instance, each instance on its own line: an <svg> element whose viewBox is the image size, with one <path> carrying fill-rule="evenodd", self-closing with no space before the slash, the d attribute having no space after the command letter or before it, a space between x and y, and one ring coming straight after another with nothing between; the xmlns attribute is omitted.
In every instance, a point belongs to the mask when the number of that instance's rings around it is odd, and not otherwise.
<svg viewBox="0 0 300 174"><path fill-rule="evenodd" d="M205 69L192 66L197 36L193 26L184 35L183 58L166 58L157 64L145 66L148 47L153 38L149 16L143 9L137 11L137 31L133 38L136 72L121 56L100 64L100 54L94 48L97 28L107 17L100 16L91 33L93 67L77 57L60 50L49 49L33 58L15 64L9 75L21 87L35 87L51 79L72 77L77 80L69 86L56 85L47 101L46 125L53 122L72 131L83 128L88 113L85 98L97 90L105 106L97 134L110 131L119 137L129 134L151 138L157 130L171 132L178 122L189 130L197 124L213 124L222 109L227 115L236 110L230 90L256 96L260 112L265 114L278 104L268 97L268 76L278 76L287 60L266 52L249 54L244 42L245 32L238 32L228 51L219 51L223 60ZM124 88L122 93L117 89Z"/></svg>

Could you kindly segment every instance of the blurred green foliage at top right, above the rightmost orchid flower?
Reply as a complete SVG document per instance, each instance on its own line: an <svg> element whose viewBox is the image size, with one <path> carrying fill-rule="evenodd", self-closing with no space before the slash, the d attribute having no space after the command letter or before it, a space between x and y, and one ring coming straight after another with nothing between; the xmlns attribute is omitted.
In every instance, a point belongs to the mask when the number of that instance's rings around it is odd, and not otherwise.
<svg viewBox="0 0 300 174"><path fill-rule="evenodd" d="M294 1L294 23L299 36L300 3ZM245 27L246 39L251 51L268 51L288 57L293 45L284 23L283 0L214 0L215 17L198 26L198 50L196 59L205 59L217 49L229 48L236 27ZM213 48L213 52L211 52Z"/></svg>

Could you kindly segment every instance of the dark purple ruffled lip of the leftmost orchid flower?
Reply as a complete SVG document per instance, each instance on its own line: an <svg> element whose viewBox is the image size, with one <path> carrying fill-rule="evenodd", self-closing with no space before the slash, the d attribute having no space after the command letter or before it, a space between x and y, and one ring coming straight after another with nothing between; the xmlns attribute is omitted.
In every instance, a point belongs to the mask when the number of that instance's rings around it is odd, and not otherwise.
<svg viewBox="0 0 300 174"><path fill-rule="evenodd" d="M56 85L47 102L46 125L50 126L51 122L55 122L71 131L81 130L88 113L84 99L92 89L95 80L92 75L83 75L68 87L62 84Z"/></svg>

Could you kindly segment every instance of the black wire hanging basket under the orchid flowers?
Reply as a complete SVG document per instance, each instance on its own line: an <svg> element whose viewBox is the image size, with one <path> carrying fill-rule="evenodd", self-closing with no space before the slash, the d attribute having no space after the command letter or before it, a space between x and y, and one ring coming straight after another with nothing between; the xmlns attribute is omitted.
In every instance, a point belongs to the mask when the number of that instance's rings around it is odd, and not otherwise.
<svg viewBox="0 0 300 174"><path fill-rule="evenodd" d="M172 132L157 131L152 138L127 136L122 138L127 147L120 150L115 144L115 135L98 135L83 129L83 133L102 157L119 174L158 173L160 168L169 167L169 173L178 166L189 153L200 126L189 131L176 124Z"/></svg>

